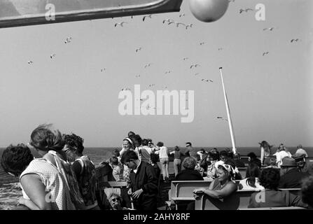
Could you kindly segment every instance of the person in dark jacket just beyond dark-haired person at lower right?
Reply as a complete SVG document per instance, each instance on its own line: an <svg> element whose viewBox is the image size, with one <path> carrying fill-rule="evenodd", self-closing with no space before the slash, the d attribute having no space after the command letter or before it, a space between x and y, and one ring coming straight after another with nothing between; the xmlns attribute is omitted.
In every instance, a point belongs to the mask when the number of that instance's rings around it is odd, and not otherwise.
<svg viewBox="0 0 313 224"><path fill-rule="evenodd" d="M301 188L302 179L307 174L299 172L293 158L285 157L281 164L279 188Z"/></svg>

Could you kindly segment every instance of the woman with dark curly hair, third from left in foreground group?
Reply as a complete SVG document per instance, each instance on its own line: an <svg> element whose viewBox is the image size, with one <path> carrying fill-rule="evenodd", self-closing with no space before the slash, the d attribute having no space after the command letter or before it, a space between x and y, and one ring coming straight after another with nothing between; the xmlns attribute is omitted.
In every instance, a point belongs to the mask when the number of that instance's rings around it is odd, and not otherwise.
<svg viewBox="0 0 313 224"><path fill-rule="evenodd" d="M84 139L76 134L63 135L64 153L78 180L79 190L85 202L85 209L99 210L96 198L96 172L95 165L88 155L83 155ZM117 160L117 158L116 158Z"/></svg>

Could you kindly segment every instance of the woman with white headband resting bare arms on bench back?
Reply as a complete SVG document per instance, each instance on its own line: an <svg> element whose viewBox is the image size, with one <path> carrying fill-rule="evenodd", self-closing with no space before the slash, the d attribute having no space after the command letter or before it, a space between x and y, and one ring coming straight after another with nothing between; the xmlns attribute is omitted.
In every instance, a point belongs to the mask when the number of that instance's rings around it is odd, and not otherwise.
<svg viewBox="0 0 313 224"><path fill-rule="evenodd" d="M194 197L200 197L202 194L206 194L213 198L228 197L237 190L237 185L232 182L232 167L230 165L218 165L217 178L210 183L208 189L196 188L193 190Z"/></svg>

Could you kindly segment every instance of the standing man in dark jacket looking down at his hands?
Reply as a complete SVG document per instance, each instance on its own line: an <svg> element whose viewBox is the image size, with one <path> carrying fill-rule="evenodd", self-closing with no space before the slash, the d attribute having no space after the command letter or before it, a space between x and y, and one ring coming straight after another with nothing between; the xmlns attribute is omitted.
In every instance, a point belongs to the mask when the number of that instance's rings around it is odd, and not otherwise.
<svg viewBox="0 0 313 224"><path fill-rule="evenodd" d="M130 172L130 195L134 200L134 209L141 211L157 210L158 179L152 165L141 162L134 151L123 153L122 163Z"/></svg>

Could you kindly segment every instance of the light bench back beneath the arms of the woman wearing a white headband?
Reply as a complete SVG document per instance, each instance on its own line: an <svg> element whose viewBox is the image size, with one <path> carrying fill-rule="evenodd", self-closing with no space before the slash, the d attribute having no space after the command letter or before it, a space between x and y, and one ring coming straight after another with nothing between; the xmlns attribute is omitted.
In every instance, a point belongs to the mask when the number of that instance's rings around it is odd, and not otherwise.
<svg viewBox="0 0 313 224"><path fill-rule="evenodd" d="M292 194L298 195L300 188L279 189L289 190ZM237 190L230 197L225 197L223 200L202 195L195 200L195 210L242 210L248 209L249 200L252 193L260 192L260 190Z"/></svg>

